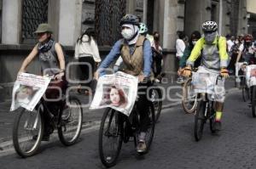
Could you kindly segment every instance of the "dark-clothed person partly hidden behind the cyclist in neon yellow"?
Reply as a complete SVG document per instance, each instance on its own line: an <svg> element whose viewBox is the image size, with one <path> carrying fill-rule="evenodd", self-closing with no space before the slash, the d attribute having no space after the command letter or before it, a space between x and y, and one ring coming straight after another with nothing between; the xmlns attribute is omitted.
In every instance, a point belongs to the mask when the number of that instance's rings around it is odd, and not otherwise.
<svg viewBox="0 0 256 169"><path fill-rule="evenodd" d="M189 39L189 46L185 48L183 57L179 60L179 69L177 70L177 74L179 76L181 75L183 68L186 66L186 61L189 58L189 55L191 54L191 51L194 48L195 43L200 38L201 38L201 33L199 31L193 31ZM198 67L200 64L201 64L201 59L196 59L195 67Z"/></svg>

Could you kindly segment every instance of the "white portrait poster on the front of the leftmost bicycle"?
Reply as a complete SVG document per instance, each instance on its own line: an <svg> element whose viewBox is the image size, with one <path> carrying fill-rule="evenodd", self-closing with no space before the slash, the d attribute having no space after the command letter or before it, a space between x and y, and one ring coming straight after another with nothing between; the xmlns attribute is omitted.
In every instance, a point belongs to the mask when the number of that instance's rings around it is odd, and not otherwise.
<svg viewBox="0 0 256 169"><path fill-rule="evenodd" d="M20 73L13 88L10 110L14 111L19 107L30 111L34 110L38 101L44 95L49 82L50 78L46 76Z"/></svg>

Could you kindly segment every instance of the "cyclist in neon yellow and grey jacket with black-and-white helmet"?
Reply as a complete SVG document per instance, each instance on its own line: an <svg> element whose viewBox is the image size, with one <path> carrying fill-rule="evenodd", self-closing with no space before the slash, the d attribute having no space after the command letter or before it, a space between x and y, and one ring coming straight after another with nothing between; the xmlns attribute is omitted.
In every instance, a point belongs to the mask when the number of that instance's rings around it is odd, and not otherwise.
<svg viewBox="0 0 256 169"><path fill-rule="evenodd" d="M198 67L198 72L220 74L223 77L228 77L227 70L229 55L226 52L226 39L225 37L218 36L218 25L215 21L206 21L202 24L202 31L204 37L201 37L193 48L189 59L187 60L186 67L183 71L184 76L191 75L191 67L194 66L195 60L201 54L201 66ZM219 82L218 87L224 89L224 80ZM216 111L215 127L216 130L221 130L221 116L224 109L224 90L218 93L215 97Z"/></svg>

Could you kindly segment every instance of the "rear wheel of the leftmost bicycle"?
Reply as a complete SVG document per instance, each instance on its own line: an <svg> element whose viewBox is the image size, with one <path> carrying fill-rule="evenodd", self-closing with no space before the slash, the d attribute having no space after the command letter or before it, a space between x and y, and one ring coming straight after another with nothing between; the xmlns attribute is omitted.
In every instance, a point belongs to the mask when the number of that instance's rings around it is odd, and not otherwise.
<svg viewBox="0 0 256 169"><path fill-rule="evenodd" d="M79 139L82 122L83 109L79 99L70 97L68 104L60 113L61 123L58 125L58 135L64 145L73 145Z"/></svg>

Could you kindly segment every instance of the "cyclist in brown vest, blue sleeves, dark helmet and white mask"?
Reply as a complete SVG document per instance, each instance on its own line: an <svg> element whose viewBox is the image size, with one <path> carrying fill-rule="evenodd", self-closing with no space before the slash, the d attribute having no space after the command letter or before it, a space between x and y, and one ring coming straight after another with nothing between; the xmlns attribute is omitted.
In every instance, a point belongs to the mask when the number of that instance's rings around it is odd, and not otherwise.
<svg viewBox="0 0 256 169"><path fill-rule="evenodd" d="M95 77L104 75L104 69L108 68L111 63L121 55L124 61L124 68L121 70L132 76L138 76L138 96L137 109L140 113L140 134L138 137L137 152L143 153L147 147L145 136L149 121L148 117L148 99L147 87L150 85L152 50L148 39L139 34L139 21L137 16L126 14L120 21L122 27L122 39L115 42L112 50L102 61L99 69L96 70Z"/></svg>

